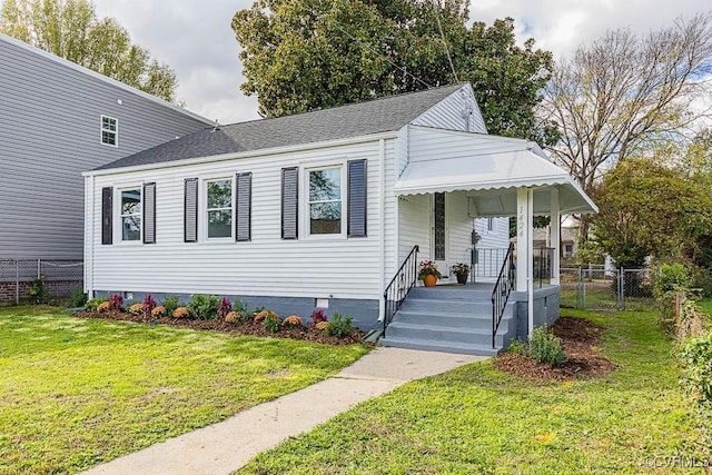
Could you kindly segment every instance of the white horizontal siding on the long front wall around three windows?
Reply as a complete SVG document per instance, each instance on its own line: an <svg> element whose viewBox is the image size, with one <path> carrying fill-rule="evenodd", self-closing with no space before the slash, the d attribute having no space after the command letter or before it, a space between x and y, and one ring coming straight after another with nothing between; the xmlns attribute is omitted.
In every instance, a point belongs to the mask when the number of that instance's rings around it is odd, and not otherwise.
<svg viewBox="0 0 712 475"><path fill-rule="evenodd" d="M379 258L380 152L380 142L372 140L201 165L172 164L142 171L99 172L93 176L93 207L87 217L93 224L95 236L90 249L91 290L377 299L383 291L378 276L384 271ZM393 145L387 141L386 155L393 162ZM299 192L304 196L305 168L336 161L346 166L348 160L360 159L367 160L367 237L306 236L301 232L306 204L300 202L298 239L281 239L281 169L299 167ZM199 221L198 243L184 243L184 180L199 179L198 207L202 215L204 180L241 172L253 174L251 240L206 241L205 226ZM156 244L115 240L111 246L102 246L97 238L101 188L116 189L144 181L156 182Z"/></svg>

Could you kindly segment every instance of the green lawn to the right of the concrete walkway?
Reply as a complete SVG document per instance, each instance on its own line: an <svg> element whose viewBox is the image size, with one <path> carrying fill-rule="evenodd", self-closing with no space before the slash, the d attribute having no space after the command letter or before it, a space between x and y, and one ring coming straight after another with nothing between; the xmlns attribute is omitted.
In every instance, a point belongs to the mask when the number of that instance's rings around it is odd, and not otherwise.
<svg viewBox="0 0 712 475"><path fill-rule="evenodd" d="M366 402L240 473L666 474L690 473L683 463L712 463L698 445L656 315L564 315L609 327L602 352L619 370L599 380L534 384L497 372L491 360L472 364Z"/></svg>

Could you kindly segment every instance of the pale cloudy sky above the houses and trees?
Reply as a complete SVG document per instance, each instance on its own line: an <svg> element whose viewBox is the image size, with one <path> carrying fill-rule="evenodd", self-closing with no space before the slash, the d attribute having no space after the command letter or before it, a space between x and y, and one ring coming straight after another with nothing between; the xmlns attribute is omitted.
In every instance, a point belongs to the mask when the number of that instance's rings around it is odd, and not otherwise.
<svg viewBox="0 0 712 475"><path fill-rule="evenodd" d="M115 17L135 42L178 75L179 99L221 123L257 118L257 99L245 97L239 47L230 20L249 0L93 0L99 17ZM708 9L703 0L473 0L471 18L515 19L518 38L533 37L555 58L606 29L647 32Z"/></svg>

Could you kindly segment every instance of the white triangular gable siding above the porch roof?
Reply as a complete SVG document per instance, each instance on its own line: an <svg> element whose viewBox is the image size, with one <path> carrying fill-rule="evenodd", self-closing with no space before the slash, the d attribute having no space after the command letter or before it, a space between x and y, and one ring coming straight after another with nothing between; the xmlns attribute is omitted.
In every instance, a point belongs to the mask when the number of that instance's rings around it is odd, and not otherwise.
<svg viewBox="0 0 712 475"><path fill-rule="evenodd" d="M458 92L449 95L433 106L412 123L414 126L487 133L469 85L463 86Z"/></svg>

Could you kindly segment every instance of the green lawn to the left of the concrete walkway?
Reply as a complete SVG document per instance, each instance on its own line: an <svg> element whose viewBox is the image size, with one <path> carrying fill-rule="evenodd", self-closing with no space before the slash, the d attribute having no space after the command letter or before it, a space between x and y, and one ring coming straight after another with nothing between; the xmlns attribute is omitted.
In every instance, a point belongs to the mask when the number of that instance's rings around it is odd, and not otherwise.
<svg viewBox="0 0 712 475"><path fill-rule="evenodd" d="M0 308L0 474L89 468L312 385L366 352Z"/></svg>

